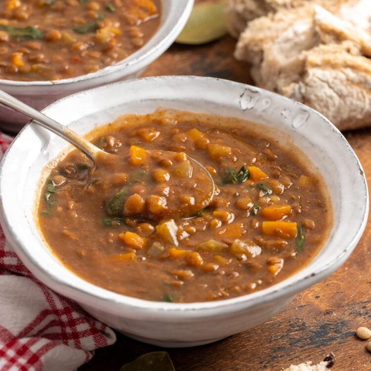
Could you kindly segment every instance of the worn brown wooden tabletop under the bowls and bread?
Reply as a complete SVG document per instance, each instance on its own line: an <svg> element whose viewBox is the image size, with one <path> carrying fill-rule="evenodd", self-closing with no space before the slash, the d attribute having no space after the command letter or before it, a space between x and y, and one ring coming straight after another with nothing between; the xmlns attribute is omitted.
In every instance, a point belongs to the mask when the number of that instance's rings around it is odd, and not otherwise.
<svg viewBox="0 0 371 371"><path fill-rule="evenodd" d="M235 41L225 37L206 46L172 46L144 76L201 75L252 83L248 65L233 59ZM370 183L371 129L346 133ZM346 176L346 174L344 174ZM213 344L167 349L177 371L279 371L306 361L336 356L334 371L370 371L371 353L355 337L371 326L371 226L354 253L335 274L297 295L269 322ZM99 349L80 371L118 371L138 356L158 350L117 334L117 342Z"/></svg>

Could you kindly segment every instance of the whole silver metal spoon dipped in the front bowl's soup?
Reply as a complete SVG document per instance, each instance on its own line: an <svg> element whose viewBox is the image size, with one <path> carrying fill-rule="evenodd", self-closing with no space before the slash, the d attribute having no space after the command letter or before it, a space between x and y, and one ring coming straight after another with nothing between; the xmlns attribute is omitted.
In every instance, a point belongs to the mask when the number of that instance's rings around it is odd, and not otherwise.
<svg viewBox="0 0 371 371"><path fill-rule="evenodd" d="M85 139L84 137L78 135L73 130L65 127L64 125L56 122L55 120L51 119L50 117L47 117L43 113L37 111L36 109L30 107L29 105L21 102L20 100L16 99L15 97L3 92L0 90L0 104L5 106L6 108L10 108L14 111L20 112L24 114L25 116L30 117L33 119L34 123L41 125L43 128L53 132L54 134L58 135L59 137L67 140L69 143L74 145L76 148L80 149L83 153L85 153L92 161L93 161L93 169L95 168L95 163L97 158L100 156L102 158L104 155L104 158L109 159L109 157L115 157L117 159L117 155L110 154L102 149L96 147L93 143L91 143L89 140ZM158 151L154 150L147 150L148 153L155 153ZM166 151L167 153L171 153L170 151ZM175 153L175 152L172 152ZM204 173L204 175L207 176L207 179L210 182L210 189L211 191L205 195L205 199L202 200L202 209L207 207L213 197L214 197L214 190L215 185L213 178L211 177L210 173L205 169L205 167L200 164L198 161L193 159L192 157L189 157L189 161L193 163L194 168L198 169L198 171L201 171ZM201 209L201 210L202 210ZM201 210L198 210L197 212L200 212ZM193 213L192 215L196 214ZM183 215L183 217L191 217L191 215Z"/></svg>

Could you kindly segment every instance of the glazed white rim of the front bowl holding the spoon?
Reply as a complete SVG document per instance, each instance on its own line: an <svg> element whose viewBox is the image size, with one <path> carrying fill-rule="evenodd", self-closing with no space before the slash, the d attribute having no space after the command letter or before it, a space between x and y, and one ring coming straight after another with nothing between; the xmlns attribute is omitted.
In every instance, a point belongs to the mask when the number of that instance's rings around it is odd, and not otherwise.
<svg viewBox="0 0 371 371"><path fill-rule="evenodd" d="M90 89L88 91L74 93L69 96L66 96L64 98L61 98L57 100L56 102L51 103L48 105L45 109L43 109L42 112L45 110L51 108L53 105L59 104L59 102L65 100L65 99L71 99L77 95L87 94L87 93L93 93L99 90L109 89L110 86L116 86L116 85L125 85L127 83L133 83L137 81L148 81L148 80L159 80L166 83L167 80L179 80L179 83L181 83L184 80L192 80L192 82L201 82L205 80L209 81L219 81L224 82L226 84L231 84L232 86L237 86L242 89L252 89L253 91L257 92L264 92L268 95L278 96L279 99L283 99L286 102L290 102L290 104L298 105L299 107L305 108L306 110L309 110L312 114L315 114L318 116L319 120L322 120L324 122L324 125L329 126L329 129L332 130L333 135L337 136L338 139L340 139L345 145L346 150L348 151L348 154L353 157L353 160L355 161L355 166L357 167L357 170L360 172L360 175L362 176L362 194L357 193L357 197L362 196L362 198L365 200L365 208L362 216L359 217L359 223L358 227L354 228L354 232L352 234L352 239L350 243L343 248L342 250L337 253L333 259L331 259L328 263L325 265L321 265L318 268L313 268L312 272L310 272L308 275L302 277L302 278L296 278L291 283L286 283L288 279L295 278L295 276L301 271L297 271L290 277L278 282L277 284L274 284L270 287L267 287L263 290L256 291L254 293L238 296L231 299L224 299L219 301L212 301L212 302L193 302L193 303L166 303L166 302L156 302L156 301L149 301L144 299L138 299L135 297L122 295L115 293L113 291L98 287L93 285L90 282L85 281L83 278L79 278L77 275L75 275L77 278L82 280L82 282L87 282L92 287L97 288L98 290L88 290L87 288L81 287L80 283L74 283L69 284L65 281L62 277L57 277L54 275L53 272L50 272L45 266L43 266L40 261L35 259L34 256L28 251L25 244L19 239L19 237L14 233L12 228L10 227L10 224L8 223L8 217L5 215L4 209L2 207L2 194L0 193L0 220L2 222L2 228L5 232L6 238L10 241L10 244L16 252L18 253L18 256L23 257L24 259L21 259L23 263L27 266L32 273L38 278L43 277L45 279L41 279L43 282L47 281L47 285L51 287L53 290L61 293L64 296L70 297L73 300L76 300L80 303L89 302L94 303L94 305L99 308L100 310L103 310L106 308L106 306L103 303L111 302L118 306L126 306L130 310L137 310L141 311L141 313L145 312L147 314L151 313L156 318L168 318L168 315L171 314L173 319L176 318L194 318L194 317L207 317L210 316L211 310L217 310L217 315L222 316L227 313L231 312L239 312L246 310L247 308L255 307L261 304L264 304L269 301L273 301L277 298L285 298L289 296L293 296L299 291L313 285L314 283L318 282L319 280L327 277L331 273L333 273L337 268L339 268L345 260L348 258L348 256L351 254L353 249L356 247L359 239L361 238L367 224L367 218L369 214L369 193L368 193L368 186L365 178L365 173L363 171L362 165L353 151L352 147L348 143L348 141L345 139L345 137L340 133L340 131L328 120L323 116L321 113L317 112L316 110L299 103L295 100L289 99L285 96L279 95L277 93L269 92L267 90L257 88L254 86L250 86L247 84L237 83L230 80L224 80L219 78L210 78L210 77L198 77L198 76L157 76L157 77L146 77L141 79L133 79L133 80L126 80L117 82L114 84L104 85L97 88ZM264 120L262 120L264 122ZM32 122L32 121L30 121ZM68 126L68 125L67 125ZM10 144L9 149L12 147L12 144L15 142L15 140L22 135L22 133L29 127L29 125L26 125L22 131L18 134L18 136L13 140L13 142ZM55 134L52 134L53 136ZM52 138L52 137L51 137ZM1 162L0 162L0 175L2 174L2 168L4 165L4 162L7 158L8 153L10 152L9 149L6 151L6 153L2 156ZM1 192L1 189L0 189ZM48 250L48 247L43 244L43 247ZM58 261L58 259L57 259ZM66 267L64 267L59 261L58 264L60 264L66 271L69 271ZM71 271L69 271L71 272ZM40 279L40 278L39 278ZM277 286L281 287L277 287ZM68 289L69 292L66 293L65 290L62 288ZM64 291L64 292L61 292ZM99 291L99 294L96 293L96 291ZM84 298L86 300L84 300ZM112 311L114 311L114 308L111 308ZM116 311L117 312L117 311ZM119 312L117 312L119 313ZM156 316L157 315L157 316Z"/></svg>

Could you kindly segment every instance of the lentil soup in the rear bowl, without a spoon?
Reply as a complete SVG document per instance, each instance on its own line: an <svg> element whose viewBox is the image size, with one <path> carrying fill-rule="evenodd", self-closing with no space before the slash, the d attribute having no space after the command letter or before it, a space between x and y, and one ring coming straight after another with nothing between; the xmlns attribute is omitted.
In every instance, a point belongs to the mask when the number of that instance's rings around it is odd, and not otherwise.
<svg viewBox="0 0 371 371"><path fill-rule="evenodd" d="M6 0L0 79L60 80L95 72L155 33L160 0Z"/></svg>

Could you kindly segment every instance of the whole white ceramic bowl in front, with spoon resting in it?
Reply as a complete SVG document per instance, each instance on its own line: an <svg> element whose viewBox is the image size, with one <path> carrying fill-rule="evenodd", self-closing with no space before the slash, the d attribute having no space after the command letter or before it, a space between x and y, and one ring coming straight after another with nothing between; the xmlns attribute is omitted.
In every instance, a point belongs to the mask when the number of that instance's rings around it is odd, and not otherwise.
<svg viewBox="0 0 371 371"><path fill-rule="evenodd" d="M367 185L362 167L346 139L311 108L231 81L156 77L77 93L51 104L44 112L83 134L120 114L148 113L159 105L235 116L289 133L287 135L318 166L332 197L334 227L317 258L270 288L223 301L151 302L94 286L58 262L44 245L35 225L33 207L35 194L40 193L40 174L67 144L30 124L13 141L1 161L0 219L7 239L37 278L128 336L152 344L180 347L212 342L267 321L295 294L330 275L345 262L366 226Z"/></svg>

